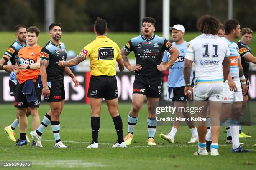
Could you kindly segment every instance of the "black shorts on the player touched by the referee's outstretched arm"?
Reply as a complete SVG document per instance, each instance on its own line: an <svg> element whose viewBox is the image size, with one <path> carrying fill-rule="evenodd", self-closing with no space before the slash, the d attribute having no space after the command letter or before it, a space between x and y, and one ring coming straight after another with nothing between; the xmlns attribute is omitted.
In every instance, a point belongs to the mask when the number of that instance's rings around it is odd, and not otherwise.
<svg viewBox="0 0 256 170"><path fill-rule="evenodd" d="M63 81L48 81L50 89L49 97L44 98L44 102L60 102L65 100L65 87Z"/></svg>

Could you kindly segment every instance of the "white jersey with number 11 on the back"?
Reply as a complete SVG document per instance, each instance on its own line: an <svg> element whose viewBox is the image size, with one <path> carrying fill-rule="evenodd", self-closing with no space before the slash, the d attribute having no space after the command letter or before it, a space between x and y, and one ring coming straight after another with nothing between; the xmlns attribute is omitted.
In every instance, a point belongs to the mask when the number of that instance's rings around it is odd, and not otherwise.
<svg viewBox="0 0 256 170"><path fill-rule="evenodd" d="M214 83L223 82L225 57L230 57L225 41L217 35L201 34L189 42L185 58L195 62L196 83Z"/></svg>

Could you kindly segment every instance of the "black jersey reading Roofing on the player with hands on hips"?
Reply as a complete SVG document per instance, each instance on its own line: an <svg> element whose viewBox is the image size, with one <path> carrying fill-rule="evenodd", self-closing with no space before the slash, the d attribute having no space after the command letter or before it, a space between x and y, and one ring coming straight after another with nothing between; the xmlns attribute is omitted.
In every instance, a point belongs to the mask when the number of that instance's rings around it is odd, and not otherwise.
<svg viewBox="0 0 256 170"><path fill-rule="evenodd" d="M157 69L157 65L161 64L164 50L168 51L171 48L171 42L157 35L154 35L150 39L139 35L138 37L132 38L124 46L127 52L134 52L136 64L142 67L141 70L135 71L135 73L147 77L161 75L161 72Z"/></svg>

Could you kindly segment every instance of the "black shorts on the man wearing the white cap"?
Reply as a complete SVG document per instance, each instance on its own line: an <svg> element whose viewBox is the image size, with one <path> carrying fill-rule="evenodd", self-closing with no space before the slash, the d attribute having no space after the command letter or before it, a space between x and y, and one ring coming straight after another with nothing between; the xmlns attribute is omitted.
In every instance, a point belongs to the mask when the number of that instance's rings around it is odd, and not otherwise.
<svg viewBox="0 0 256 170"><path fill-rule="evenodd" d="M168 87L168 99L172 101L187 102L187 96L185 95L185 87Z"/></svg>

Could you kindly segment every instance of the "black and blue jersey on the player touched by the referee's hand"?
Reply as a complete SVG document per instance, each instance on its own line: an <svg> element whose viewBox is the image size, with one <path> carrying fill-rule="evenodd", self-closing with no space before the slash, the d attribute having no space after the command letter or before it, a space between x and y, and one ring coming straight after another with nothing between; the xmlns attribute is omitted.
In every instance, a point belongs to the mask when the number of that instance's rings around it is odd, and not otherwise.
<svg viewBox="0 0 256 170"><path fill-rule="evenodd" d="M59 42L60 45L54 44L51 40L42 48L40 60L49 61L46 68L47 81L64 81L65 67L59 67L58 62L67 59L67 51L65 45Z"/></svg>

